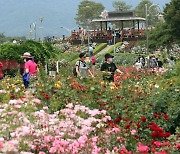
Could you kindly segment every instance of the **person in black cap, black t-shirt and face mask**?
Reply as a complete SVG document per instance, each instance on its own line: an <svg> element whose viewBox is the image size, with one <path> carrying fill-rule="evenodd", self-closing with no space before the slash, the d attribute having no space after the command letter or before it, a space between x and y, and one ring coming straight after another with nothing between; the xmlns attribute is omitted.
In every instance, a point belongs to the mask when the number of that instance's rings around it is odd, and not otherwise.
<svg viewBox="0 0 180 154"><path fill-rule="evenodd" d="M122 74L116 65L113 63L114 56L109 53L105 54L105 62L101 65L101 72L103 73L103 80L108 82L114 82L114 74L118 72Z"/></svg>

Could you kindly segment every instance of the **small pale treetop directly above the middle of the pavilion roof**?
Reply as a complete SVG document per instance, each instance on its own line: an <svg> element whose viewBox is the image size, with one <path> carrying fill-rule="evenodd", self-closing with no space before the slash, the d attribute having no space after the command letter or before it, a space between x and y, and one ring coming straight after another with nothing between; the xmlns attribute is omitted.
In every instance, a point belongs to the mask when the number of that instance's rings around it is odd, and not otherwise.
<svg viewBox="0 0 180 154"><path fill-rule="evenodd" d="M122 9L123 11L130 10L132 8L131 5L127 5L125 1L113 1L113 7L116 11Z"/></svg>

